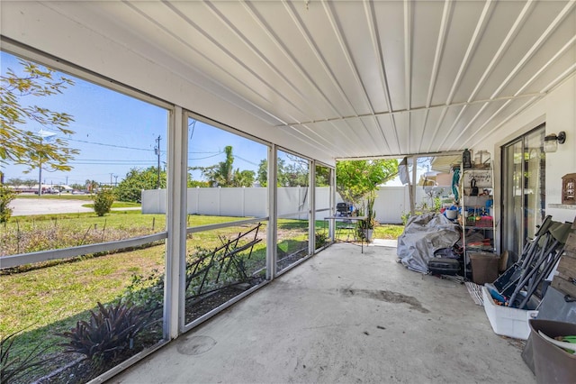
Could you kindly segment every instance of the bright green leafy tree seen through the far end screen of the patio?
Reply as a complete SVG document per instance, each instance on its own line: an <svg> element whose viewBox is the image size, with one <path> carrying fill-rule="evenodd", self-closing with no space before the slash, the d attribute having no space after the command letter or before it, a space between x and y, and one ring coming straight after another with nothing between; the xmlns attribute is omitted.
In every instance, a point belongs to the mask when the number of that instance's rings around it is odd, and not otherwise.
<svg viewBox="0 0 576 384"><path fill-rule="evenodd" d="M398 173L398 160L343 160L336 163L336 190L358 206L364 197Z"/></svg>

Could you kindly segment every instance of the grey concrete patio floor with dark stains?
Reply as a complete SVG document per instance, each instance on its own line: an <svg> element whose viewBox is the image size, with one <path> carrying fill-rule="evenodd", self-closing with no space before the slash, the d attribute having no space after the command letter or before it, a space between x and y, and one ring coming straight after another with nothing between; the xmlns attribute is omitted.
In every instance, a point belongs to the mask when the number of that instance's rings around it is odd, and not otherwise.
<svg viewBox="0 0 576 384"><path fill-rule="evenodd" d="M536 382L463 284L364 251L321 251L110 382Z"/></svg>

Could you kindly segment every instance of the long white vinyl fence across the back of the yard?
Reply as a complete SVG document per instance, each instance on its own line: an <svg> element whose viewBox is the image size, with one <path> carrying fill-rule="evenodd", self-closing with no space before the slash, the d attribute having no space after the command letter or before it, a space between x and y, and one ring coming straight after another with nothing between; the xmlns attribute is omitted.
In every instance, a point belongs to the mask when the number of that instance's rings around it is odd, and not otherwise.
<svg viewBox="0 0 576 384"><path fill-rule="evenodd" d="M450 192L444 189L443 195ZM316 188L317 210L329 208L329 187ZM307 211L309 204L308 187L279 187L278 215L281 217L306 219L307 215L298 212ZM195 187L188 188L188 215L222 215L238 217L267 216L268 194L265 187ZM337 203L341 201L337 196ZM423 187L417 187L416 205L431 204ZM376 220L382 224L401 224L401 216L410 211L408 187L380 187L374 201ZM166 189L142 191L143 214L166 213ZM328 212L320 213L320 219Z"/></svg>

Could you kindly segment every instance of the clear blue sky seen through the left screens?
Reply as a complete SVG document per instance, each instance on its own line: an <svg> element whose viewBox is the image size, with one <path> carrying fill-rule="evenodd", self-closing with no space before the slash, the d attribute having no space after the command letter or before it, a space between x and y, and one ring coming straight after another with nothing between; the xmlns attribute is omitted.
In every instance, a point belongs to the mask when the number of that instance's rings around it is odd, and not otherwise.
<svg viewBox="0 0 576 384"><path fill-rule="evenodd" d="M20 72L18 59L1 52L2 75L6 69ZM66 75L67 76L67 75ZM69 86L61 95L23 97L23 104L36 104L52 111L66 112L74 116L69 128L71 135L59 134L67 139L69 146L80 153L70 161L74 168L68 172L42 171L42 181L46 184L84 184L86 179L102 183L120 182L132 168L146 169L157 165L155 146L160 136L160 164L166 163L166 132L168 112L156 105L150 105L119 92L96 86L79 78L73 78L75 85ZM37 133L42 128L38 123L28 123L23 129ZM47 130L47 128L43 128ZM48 128L49 130L49 128ZM189 129L189 166L209 166L225 159L223 149L233 147L234 167L257 170L258 163L266 159L266 147L197 122ZM14 164L0 165L5 179L38 179L39 170L25 174L25 166ZM112 174L112 175L111 175ZM193 178L200 179L200 172L193 172Z"/></svg>

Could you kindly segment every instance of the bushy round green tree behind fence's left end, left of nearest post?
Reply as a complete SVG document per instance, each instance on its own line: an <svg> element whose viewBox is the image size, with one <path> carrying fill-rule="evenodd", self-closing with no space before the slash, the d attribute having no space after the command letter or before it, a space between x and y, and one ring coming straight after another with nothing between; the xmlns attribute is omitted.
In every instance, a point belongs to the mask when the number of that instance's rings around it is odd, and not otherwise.
<svg viewBox="0 0 576 384"><path fill-rule="evenodd" d="M156 189L158 179L157 167L147 169L133 168L115 188L116 197L120 201L141 202L142 189ZM166 187L166 171L160 171L160 187Z"/></svg>

